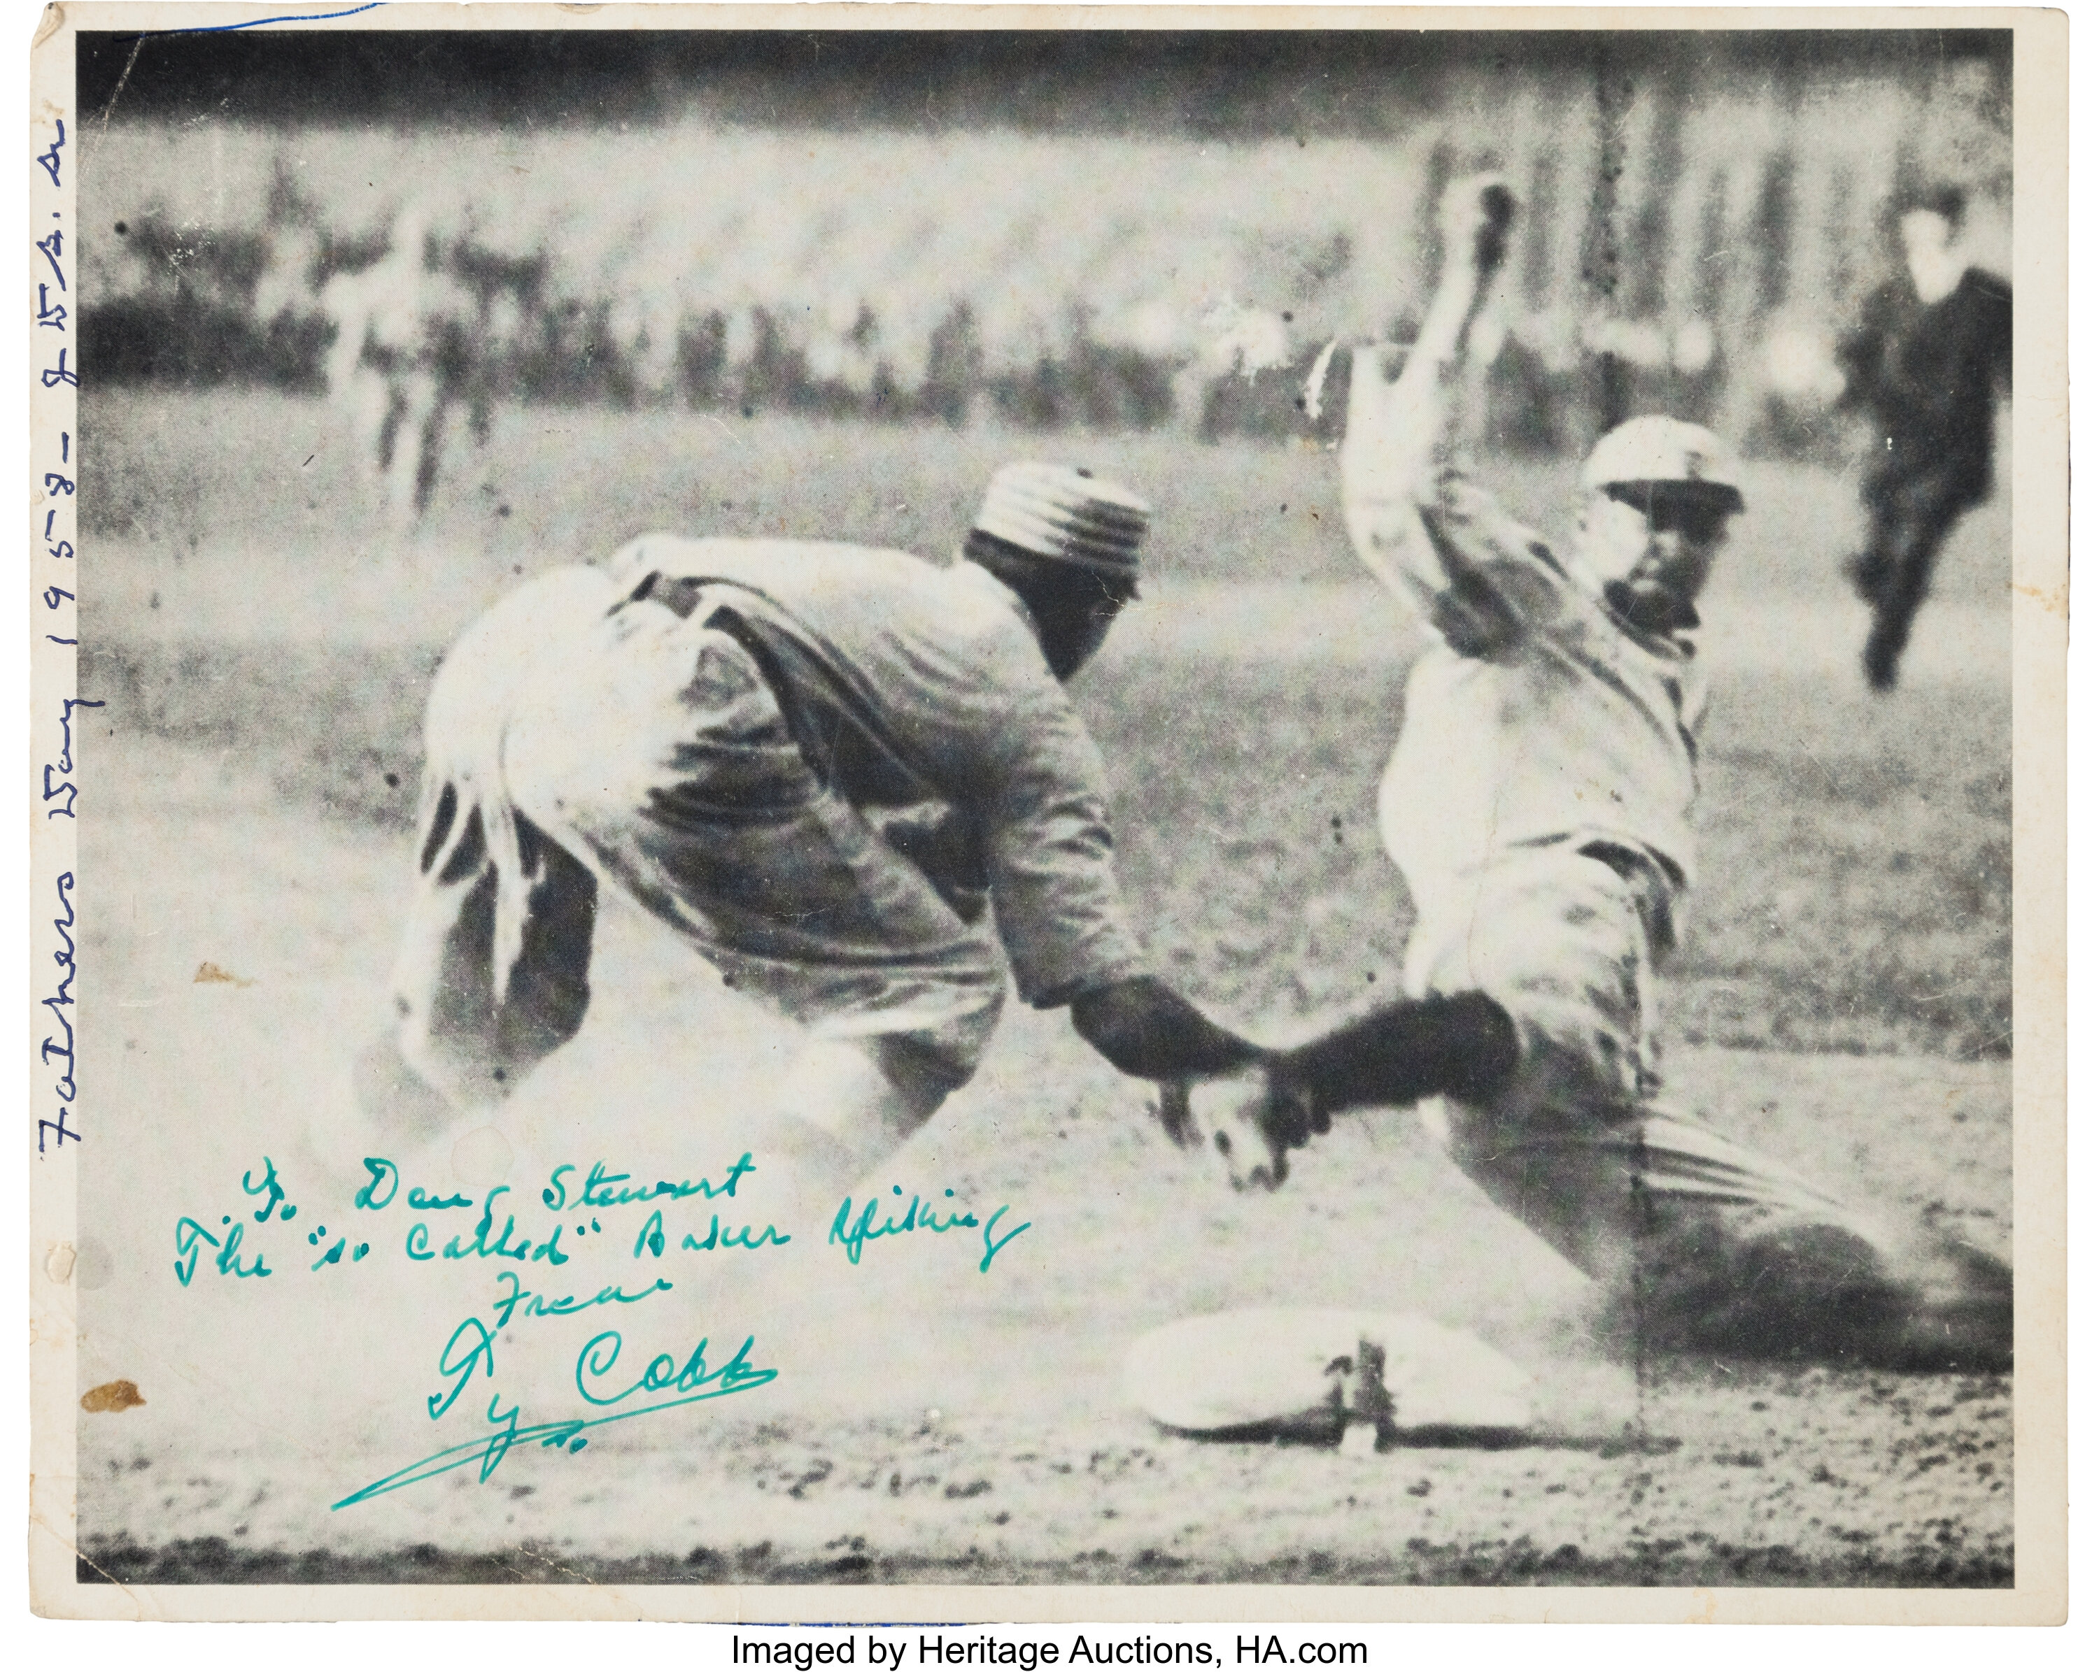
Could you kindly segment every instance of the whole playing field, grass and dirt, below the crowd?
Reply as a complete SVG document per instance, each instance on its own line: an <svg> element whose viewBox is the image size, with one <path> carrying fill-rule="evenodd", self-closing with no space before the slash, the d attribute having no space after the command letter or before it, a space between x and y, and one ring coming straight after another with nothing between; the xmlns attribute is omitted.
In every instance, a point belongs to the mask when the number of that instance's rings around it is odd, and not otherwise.
<svg viewBox="0 0 2099 1672"><path fill-rule="evenodd" d="M277 415L283 449L304 447L311 413ZM181 411L118 417L88 441L139 462L157 455L136 426ZM607 447L615 434L577 424ZM636 420L636 445L655 445L651 424ZM871 529L917 550L936 550L919 535L957 514L993 449L905 432L842 445L814 428L772 441L804 476L768 464L720 497L793 487L879 510L869 476L886 489L911 470L909 527ZM80 745L82 1082L94 1087L80 1374L84 1393L130 1380L145 1403L80 1420L82 1578L2011 1582L2007 1382L1610 1359L1583 1280L1413 1118L1350 1122L1285 1192L1234 1198L1157 1137L1146 1089L1056 1013L1012 1013L980 1078L869 1181L1008 1208L1026 1231L995 1257L921 1240L842 1265L825 1242L835 1204L775 1189L762 1156L730 1223L772 1223L785 1248L686 1248L726 1202L655 1204L661 1255L651 1204L542 1206L565 1162L720 1181L751 1089L791 1043L630 913L602 925L584 1036L493 1137L363 1124L348 1057L382 1024L437 648L527 566L527 543L535 566L605 543L573 506L523 497L529 539L493 520L476 533L481 497L567 480L533 466L535 445L497 436L495 489L439 508L455 562L439 548L374 552L357 516L332 543L323 512L294 503L298 459L281 449L258 453L254 503L174 472L185 487L166 503L139 501L84 541L82 692L111 707ZM1291 522L1287 539L1251 529L1270 495L1324 510L1331 457L1249 455L1234 489L1224 449L1146 438L1129 453L1190 508L1201 493L1243 503L1209 506L1180 535L1079 688L1115 776L1123 875L1165 973L1291 1036L1398 978L1411 906L1371 803L1413 640L1381 596L1345 583L1324 524ZM1543 503L1545 480L1518 487ZM1858 613L1835 583L1843 485L1793 487L1711 608L1704 875L1665 990L1671 1093L1809 1173L2002 1250L2009 646L2002 590L1971 560L1996 524L1963 531L1965 566L1921 621L1904 690L1874 703L1851 663ZM678 493L651 493L646 514L678 520ZM882 503L903 516L907 499ZM1224 583L1234 564L1249 575ZM292 1225L252 1221L262 1196L241 1179L260 1179L264 1156L300 1208ZM397 1164L401 1204L355 1206L365 1156ZM495 1370L432 1420L447 1334L489 1315L497 1282L481 1261L407 1257L411 1185L474 1204L508 1185L521 1234L563 1231L558 1276L518 1267L548 1294L670 1288L613 1303L617 1315L516 1322ZM239 1259L262 1255L273 1276L202 1261L181 1282L183 1215L220 1236L248 1215ZM439 1242L472 1242L468 1217L424 1215ZM369 1257L327 1265L348 1231ZM1119 1362L1138 1332L1282 1301L1480 1332L1536 1372L1536 1443L1371 1458L1217 1448L1129 1410ZM319 1328L279 1338L269 1320L288 1311ZM630 1353L751 1334L754 1362L781 1374L577 1435L579 1450L518 1443L485 1481L476 1458L330 1508L439 1445L485 1441L491 1395L525 1422L571 1418L579 1351L605 1328Z"/></svg>

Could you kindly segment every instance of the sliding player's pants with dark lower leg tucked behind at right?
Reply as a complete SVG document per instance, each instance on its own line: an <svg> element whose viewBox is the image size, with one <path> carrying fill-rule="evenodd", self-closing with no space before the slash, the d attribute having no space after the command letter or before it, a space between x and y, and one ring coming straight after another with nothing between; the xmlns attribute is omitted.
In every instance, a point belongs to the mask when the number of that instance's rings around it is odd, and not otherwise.
<svg viewBox="0 0 2099 1672"><path fill-rule="evenodd" d="M1667 902L1639 862L1560 852L1497 864L1463 913L1429 925L1411 978L1488 992L1520 1036L1499 1087L1432 1114L1453 1160L1604 1284L1648 1349L1889 1368L2009 1357L2009 1276L1986 1255L1654 1101Z"/></svg>

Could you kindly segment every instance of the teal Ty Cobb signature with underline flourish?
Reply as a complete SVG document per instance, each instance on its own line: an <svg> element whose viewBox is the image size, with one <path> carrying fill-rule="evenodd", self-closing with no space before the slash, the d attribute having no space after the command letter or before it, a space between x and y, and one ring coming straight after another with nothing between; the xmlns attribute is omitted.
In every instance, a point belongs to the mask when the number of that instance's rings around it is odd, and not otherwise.
<svg viewBox="0 0 2099 1672"><path fill-rule="evenodd" d="M638 1296L636 1296L638 1299ZM479 1338L468 1347L468 1376L474 1364L487 1362L489 1374L495 1372L495 1343L487 1328L481 1326L479 1317L466 1320L460 1330L453 1332L451 1341L445 1345L445 1353L439 1359L439 1370L443 1374L455 1374L458 1366L445 1370L451 1362L453 1349L460 1345L462 1334L468 1334L468 1326L479 1328ZM779 1370L766 1370L749 1362L751 1345L756 1336L745 1336L743 1345L735 1351L720 1370L707 1368L707 1341L701 1338L693 1347L691 1357L680 1366L674 1353L657 1353L649 1359L649 1368L642 1370L640 1378L619 1391L619 1393L596 1393L590 1382L600 1382L613 1374L619 1364L621 1338L619 1330L602 1330L584 1343L584 1351L575 1355L575 1391L584 1395L592 1406L617 1406L632 1399L636 1393L670 1393L676 1391L676 1399L659 1399L653 1406L636 1406L634 1410L613 1412L611 1416L571 1416L556 1422L518 1422L518 1406L512 1403L510 1410L497 1410L504 1401L502 1393L489 1395L487 1420L495 1424L495 1433L483 1435L479 1439L462 1441L460 1445L447 1445L443 1452L432 1452L405 1469L397 1469L390 1475L382 1475L372 1481L372 1485L359 1487L348 1498L340 1498L330 1508L348 1508L351 1504L361 1504L367 1498L382 1498L388 1492L399 1492L407 1485L418 1485L420 1481L437 1479L439 1475L449 1475L455 1469L479 1469L479 1479L487 1481L500 1466L510 1448L535 1443L546 1450L567 1452L569 1456L581 1452L590 1441L584 1437L590 1429L602 1429L611 1422L628 1422L636 1416L657 1416L659 1412L678 1410L680 1406L697 1406L707 1399L726 1399L733 1393L749 1393L754 1387L764 1387L779 1376ZM586 1380L590 1378L590 1380ZM462 1376L460 1387L466 1385ZM430 1416L441 1416L451 1399L458 1397L460 1387L453 1389L451 1397L445 1397L439 1406L439 1395L430 1397Z"/></svg>

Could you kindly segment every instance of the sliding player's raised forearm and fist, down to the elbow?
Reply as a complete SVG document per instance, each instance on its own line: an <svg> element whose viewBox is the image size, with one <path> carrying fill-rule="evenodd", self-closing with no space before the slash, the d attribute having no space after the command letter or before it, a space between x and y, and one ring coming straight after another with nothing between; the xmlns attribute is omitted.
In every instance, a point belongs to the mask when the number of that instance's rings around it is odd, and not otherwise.
<svg viewBox="0 0 2099 1672"><path fill-rule="evenodd" d="M1341 445L1341 503L1356 554L1402 598L1425 602L1448 577L1421 527L1459 455L1473 401L1471 331L1507 260L1515 197L1494 176L1455 180L1440 222L1444 264L1421 338L1398 382L1383 348L1358 350Z"/></svg>

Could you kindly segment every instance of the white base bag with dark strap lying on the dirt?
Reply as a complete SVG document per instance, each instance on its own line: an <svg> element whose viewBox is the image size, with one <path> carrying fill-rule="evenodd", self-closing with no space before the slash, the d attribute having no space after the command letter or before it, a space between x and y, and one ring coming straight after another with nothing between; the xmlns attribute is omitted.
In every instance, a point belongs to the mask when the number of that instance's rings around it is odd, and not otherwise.
<svg viewBox="0 0 2099 1672"><path fill-rule="evenodd" d="M1129 1401L1201 1439L1507 1443L1530 1427L1528 1372L1486 1343L1408 1313L1255 1307L1142 1336Z"/></svg>

